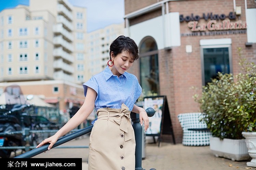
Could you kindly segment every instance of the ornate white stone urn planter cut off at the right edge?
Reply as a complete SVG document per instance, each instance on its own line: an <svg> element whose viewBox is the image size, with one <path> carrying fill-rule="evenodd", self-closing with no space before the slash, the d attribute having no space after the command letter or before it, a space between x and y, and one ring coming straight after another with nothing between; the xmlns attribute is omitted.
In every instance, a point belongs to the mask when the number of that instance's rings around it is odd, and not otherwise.
<svg viewBox="0 0 256 170"><path fill-rule="evenodd" d="M252 157L251 162L247 162L248 167L256 167L256 132L242 132L245 137L246 146L249 155Z"/></svg>

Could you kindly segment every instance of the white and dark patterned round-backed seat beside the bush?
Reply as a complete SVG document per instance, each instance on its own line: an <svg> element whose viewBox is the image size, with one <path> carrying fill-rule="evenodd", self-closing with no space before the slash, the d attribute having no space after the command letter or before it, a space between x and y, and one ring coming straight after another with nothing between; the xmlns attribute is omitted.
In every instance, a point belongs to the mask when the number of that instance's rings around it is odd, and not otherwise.
<svg viewBox="0 0 256 170"><path fill-rule="evenodd" d="M182 113L178 120L183 129L182 144L185 146L208 146L210 145L211 132L205 122L200 121L201 113Z"/></svg>

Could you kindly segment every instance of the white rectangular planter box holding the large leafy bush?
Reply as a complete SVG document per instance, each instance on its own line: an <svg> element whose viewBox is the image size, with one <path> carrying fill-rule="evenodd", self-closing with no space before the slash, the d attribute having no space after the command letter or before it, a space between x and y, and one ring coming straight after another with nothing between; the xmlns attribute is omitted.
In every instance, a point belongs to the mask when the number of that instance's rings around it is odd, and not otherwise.
<svg viewBox="0 0 256 170"><path fill-rule="evenodd" d="M210 137L210 150L216 157L224 157L233 161L248 160L248 154L245 139L223 139Z"/></svg>

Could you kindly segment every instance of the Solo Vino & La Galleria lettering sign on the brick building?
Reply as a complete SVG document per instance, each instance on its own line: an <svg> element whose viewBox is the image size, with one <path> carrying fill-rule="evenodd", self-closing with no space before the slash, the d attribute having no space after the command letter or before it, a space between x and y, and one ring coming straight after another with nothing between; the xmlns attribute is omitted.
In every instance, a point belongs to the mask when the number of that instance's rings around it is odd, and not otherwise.
<svg viewBox="0 0 256 170"><path fill-rule="evenodd" d="M227 19L228 18L228 19ZM208 23L198 24L200 19L204 19L208 21ZM222 20L221 22L218 22ZM213 14L203 13L202 16L191 14L190 16L180 15L180 22L186 21L188 22L188 28L191 28L191 31L223 31L223 30L242 30L246 29L246 21L230 21L236 20L236 14L234 12L230 12L228 15L225 14Z"/></svg>

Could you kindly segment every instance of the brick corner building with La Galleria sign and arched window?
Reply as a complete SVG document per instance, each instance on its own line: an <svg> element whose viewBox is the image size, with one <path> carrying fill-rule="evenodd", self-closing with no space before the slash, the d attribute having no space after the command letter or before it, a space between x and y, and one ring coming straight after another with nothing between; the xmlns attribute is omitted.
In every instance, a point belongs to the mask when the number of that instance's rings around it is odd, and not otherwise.
<svg viewBox="0 0 256 170"><path fill-rule="evenodd" d="M125 0L125 34L139 45L134 73L145 91L167 97L176 142L180 113L218 71L237 74L238 48L256 62L255 0Z"/></svg>

